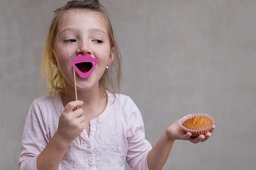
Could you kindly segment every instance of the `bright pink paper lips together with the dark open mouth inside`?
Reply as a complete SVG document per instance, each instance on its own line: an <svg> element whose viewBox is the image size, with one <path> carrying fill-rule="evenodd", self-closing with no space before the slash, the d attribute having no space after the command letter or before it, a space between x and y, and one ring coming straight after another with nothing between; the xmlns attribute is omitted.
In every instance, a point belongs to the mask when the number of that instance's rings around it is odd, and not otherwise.
<svg viewBox="0 0 256 170"><path fill-rule="evenodd" d="M98 63L98 59L95 59L87 54L82 56L79 54L76 59L71 62L71 65L81 78L88 78L92 74L94 68Z"/></svg>

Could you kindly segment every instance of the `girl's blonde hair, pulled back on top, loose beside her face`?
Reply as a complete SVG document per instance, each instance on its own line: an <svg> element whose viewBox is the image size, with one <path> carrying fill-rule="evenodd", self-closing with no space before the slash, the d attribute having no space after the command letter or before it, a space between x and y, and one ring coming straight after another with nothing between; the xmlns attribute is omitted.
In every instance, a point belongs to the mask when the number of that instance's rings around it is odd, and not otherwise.
<svg viewBox="0 0 256 170"><path fill-rule="evenodd" d="M75 9L97 12L102 17L103 21L105 21L105 25L108 30L110 49L113 49L113 54L115 56L112 64L109 66L109 69L106 69L99 80L99 87L102 91L108 90L112 93L119 93L121 85L121 54L114 39L112 26L106 13L106 9L98 0L73 0L54 11L55 15L49 26L41 63L42 82L48 85L47 89L50 95L53 96L56 91L61 95L65 94L66 88L64 84L64 77L62 76L60 69L55 68L55 65L52 63L52 57L55 57L54 40L56 35L59 33L59 29L57 28L58 23L67 11Z"/></svg>

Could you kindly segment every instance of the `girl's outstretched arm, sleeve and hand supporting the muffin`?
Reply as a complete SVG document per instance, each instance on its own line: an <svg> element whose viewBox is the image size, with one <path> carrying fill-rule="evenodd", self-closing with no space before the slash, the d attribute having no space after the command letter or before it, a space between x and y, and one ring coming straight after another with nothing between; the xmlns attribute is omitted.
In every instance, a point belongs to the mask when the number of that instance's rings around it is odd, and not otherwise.
<svg viewBox="0 0 256 170"><path fill-rule="evenodd" d="M131 112L129 119L130 130L128 133L128 152L127 162L132 170L161 170L168 159L175 140L189 140L192 143L204 142L211 136L215 129L197 138L191 138L190 132L184 133L178 125L179 119L170 125L160 136L155 146L151 145L145 139L143 119L137 106L132 102L129 105L128 112Z"/></svg>

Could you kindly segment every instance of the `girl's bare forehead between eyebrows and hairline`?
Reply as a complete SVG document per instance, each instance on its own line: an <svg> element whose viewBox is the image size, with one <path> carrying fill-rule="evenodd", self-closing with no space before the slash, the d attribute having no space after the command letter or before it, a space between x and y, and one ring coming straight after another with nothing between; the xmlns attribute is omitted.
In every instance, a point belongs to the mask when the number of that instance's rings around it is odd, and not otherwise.
<svg viewBox="0 0 256 170"><path fill-rule="evenodd" d="M95 11L86 11L76 9L67 11L59 20L59 33L67 28L78 28L87 30L90 28L97 28L107 34L108 29L105 19L102 15Z"/></svg>

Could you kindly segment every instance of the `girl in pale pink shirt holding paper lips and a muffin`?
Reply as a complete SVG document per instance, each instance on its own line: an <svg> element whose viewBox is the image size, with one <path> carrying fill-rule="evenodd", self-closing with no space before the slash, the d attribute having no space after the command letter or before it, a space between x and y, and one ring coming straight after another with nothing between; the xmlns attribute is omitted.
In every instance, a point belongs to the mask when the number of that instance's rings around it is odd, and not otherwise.
<svg viewBox="0 0 256 170"><path fill-rule="evenodd" d="M75 101L71 63L77 59L83 62L74 65ZM191 138L177 120L152 148L137 106L128 96L114 94L120 70L119 50L99 1L73 0L58 8L42 62L50 95L36 99L29 109L20 170L124 170L125 160L133 170L160 170L175 140L209 139L215 126L205 136ZM87 78L81 76L85 74Z"/></svg>

